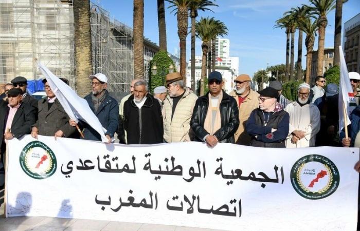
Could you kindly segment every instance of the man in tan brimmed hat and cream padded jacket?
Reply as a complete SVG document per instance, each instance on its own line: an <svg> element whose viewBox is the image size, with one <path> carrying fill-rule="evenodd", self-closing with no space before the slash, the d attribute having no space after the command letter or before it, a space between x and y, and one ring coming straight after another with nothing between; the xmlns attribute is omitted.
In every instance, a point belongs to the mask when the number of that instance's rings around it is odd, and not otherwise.
<svg viewBox="0 0 360 231"><path fill-rule="evenodd" d="M185 88L179 72L166 75L166 86L169 95L163 107L164 140L168 143L191 141L190 120L197 96Z"/></svg>

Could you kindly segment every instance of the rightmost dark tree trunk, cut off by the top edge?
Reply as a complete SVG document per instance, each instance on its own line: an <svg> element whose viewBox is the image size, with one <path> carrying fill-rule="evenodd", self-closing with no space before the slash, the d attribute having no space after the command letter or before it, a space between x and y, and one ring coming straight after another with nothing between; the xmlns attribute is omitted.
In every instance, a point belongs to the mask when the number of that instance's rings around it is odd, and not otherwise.
<svg viewBox="0 0 360 231"><path fill-rule="evenodd" d="M334 35L334 65L340 66L339 46L341 45L341 18L343 17L343 0L336 0L335 35Z"/></svg>

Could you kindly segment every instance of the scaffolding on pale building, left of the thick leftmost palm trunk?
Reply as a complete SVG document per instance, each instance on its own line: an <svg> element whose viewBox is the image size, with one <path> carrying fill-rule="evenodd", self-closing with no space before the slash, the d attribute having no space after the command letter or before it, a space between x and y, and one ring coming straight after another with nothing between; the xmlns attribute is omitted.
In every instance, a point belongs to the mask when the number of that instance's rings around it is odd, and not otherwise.
<svg viewBox="0 0 360 231"><path fill-rule="evenodd" d="M35 58L74 86L71 1L0 0L0 82L42 79Z"/></svg>

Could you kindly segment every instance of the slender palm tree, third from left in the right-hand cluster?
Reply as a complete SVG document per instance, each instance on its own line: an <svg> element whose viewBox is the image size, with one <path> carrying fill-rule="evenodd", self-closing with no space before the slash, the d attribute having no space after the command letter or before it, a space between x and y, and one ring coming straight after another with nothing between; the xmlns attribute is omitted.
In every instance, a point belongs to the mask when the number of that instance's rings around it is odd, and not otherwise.
<svg viewBox="0 0 360 231"><path fill-rule="evenodd" d="M287 13L293 13L296 21L296 25L299 25L300 21L305 20L306 18L310 17L309 14L310 8L308 6L296 7L291 8L291 11ZM296 73L297 73L297 80L302 80L302 66L301 66L301 59L302 59L302 33L301 29L297 27L299 31L298 37L298 50L297 50L297 65L296 65Z"/></svg>

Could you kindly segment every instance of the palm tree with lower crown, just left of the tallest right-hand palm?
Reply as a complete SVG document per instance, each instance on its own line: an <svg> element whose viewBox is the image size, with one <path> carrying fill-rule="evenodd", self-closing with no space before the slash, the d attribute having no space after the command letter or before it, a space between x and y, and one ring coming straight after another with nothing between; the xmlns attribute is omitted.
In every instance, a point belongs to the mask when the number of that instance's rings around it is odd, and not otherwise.
<svg viewBox="0 0 360 231"><path fill-rule="evenodd" d="M299 28L306 34L305 46L307 49L307 57L306 57L305 82L307 84L310 84L312 55L313 55L316 31L318 30L318 23L316 20L312 22L310 18L307 18L306 20L301 21L299 23Z"/></svg>

